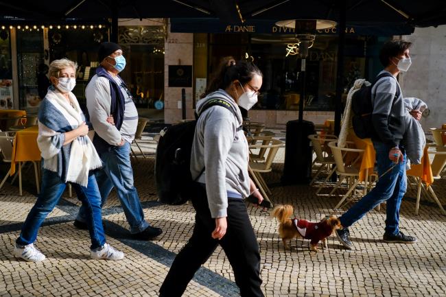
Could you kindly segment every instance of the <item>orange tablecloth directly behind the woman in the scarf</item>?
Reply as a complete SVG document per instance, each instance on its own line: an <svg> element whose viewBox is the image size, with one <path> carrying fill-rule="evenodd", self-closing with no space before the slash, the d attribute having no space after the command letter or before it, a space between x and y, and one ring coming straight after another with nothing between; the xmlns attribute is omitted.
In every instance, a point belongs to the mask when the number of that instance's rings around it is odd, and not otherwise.
<svg viewBox="0 0 446 297"><path fill-rule="evenodd" d="M12 146L11 176L16 171L16 162L40 161L40 150L37 146L38 126L16 132Z"/></svg>

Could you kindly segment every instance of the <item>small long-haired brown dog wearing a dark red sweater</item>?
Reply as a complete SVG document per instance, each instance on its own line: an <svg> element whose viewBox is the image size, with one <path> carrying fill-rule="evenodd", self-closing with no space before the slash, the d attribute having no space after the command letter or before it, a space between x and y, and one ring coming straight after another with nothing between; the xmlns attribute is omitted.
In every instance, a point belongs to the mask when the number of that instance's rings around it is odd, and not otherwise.
<svg viewBox="0 0 446 297"><path fill-rule="evenodd" d="M293 215L294 209L290 204L278 205L274 207L271 215L279 220L279 236L283 241L283 246L287 248L287 240L293 238L310 239L309 247L314 252L317 252L319 241L322 241L325 248L328 248L327 237L329 237L334 230L342 229L340 221L337 217L330 215L325 217L318 223L308 222L305 219L290 219Z"/></svg>

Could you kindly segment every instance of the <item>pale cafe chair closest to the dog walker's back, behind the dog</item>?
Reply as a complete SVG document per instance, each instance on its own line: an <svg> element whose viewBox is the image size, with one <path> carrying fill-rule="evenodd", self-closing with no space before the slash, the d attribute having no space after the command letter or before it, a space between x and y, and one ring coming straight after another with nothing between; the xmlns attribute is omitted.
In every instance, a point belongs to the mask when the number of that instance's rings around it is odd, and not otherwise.
<svg viewBox="0 0 446 297"><path fill-rule="evenodd" d="M336 163L336 174L340 176L338 184L331 190L329 196L331 196L333 192L340 187L344 179L348 180L347 185L349 186L347 193L342 196L341 200L334 207L335 209L340 208L342 202L344 202L344 200L351 195L353 190L355 190L357 185L360 183L360 169L358 162L361 161L364 150L349 147L354 145L354 143L351 141L347 141L346 143L347 147L338 147L338 141L331 141L328 144L331 152L333 152L333 158ZM348 154L354 154L354 159L352 162L346 163Z"/></svg>

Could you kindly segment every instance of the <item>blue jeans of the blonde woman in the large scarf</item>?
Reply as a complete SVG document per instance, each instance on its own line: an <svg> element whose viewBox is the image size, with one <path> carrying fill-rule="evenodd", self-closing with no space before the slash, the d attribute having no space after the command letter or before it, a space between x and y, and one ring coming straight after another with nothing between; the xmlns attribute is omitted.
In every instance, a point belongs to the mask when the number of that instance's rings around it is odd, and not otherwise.
<svg viewBox="0 0 446 297"><path fill-rule="evenodd" d="M90 174L87 187L74 183L71 185L78 193L78 199L82 202L82 207L85 209L86 223L89 226L91 237L90 248L91 250L100 248L104 246L106 239L101 218L101 197L99 196L96 178L93 174ZM60 179L56 172L43 169L42 185L40 187L42 191L38 195L36 204L34 204L25 219L22 232L16 240L17 244L26 246L36 241L40 225L45 220L45 217L56 207L66 187L67 184Z"/></svg>

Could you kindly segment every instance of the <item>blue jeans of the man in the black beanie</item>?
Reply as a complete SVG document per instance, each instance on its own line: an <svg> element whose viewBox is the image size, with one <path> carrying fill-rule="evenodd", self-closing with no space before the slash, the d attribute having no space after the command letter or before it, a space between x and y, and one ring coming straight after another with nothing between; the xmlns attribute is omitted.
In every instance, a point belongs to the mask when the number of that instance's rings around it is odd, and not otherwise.
<svg viewBox="0 0 446 297"><path fill-rule="evenodd" d="M130 143L113 147L109 152L100 154L102 169L96 172L97 185L101 192L101 207L105 205L110 191L115 187L122 209L130 225L130 233L139 233L149 224L145 222L143 208L139 202L137 189L133 185L133 169L130 163ZM85 222L85 209L81 206L78 217Z"/></svg>

